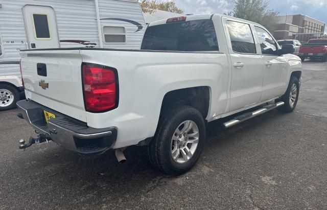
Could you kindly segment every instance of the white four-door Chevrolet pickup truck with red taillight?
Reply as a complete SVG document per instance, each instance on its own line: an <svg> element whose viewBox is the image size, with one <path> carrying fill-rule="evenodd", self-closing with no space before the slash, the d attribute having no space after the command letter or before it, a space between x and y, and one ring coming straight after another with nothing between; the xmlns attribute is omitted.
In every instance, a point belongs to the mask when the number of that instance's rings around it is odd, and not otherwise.
<svg viewBox="0 0 327 210"><path fill-rule="evenodd" d="M141 50L22 50L18 116L39 135L20 148L52 140L81 155L115 149L123 161L126 147L147 146L159 170L184 173L207 122L293 111L302 68L292 52L263 26L218 14L153 22Z"/></svg>

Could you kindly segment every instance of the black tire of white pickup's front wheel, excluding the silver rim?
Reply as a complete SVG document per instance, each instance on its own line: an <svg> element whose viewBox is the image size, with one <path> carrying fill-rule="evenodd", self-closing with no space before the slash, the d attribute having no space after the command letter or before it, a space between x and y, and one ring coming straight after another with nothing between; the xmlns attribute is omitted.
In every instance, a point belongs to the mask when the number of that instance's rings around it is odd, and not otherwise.
<svg viewBox="0 0 327 210"><path fill-rule="evenodd" d="M297 91L296 91L296 98L294 101L294 104L292 105L290 102L290 94L291 94L291 89L293 84L296 85ZM285 92L285 94L283 95L283 97L278 100L278 101L283 101L285 104L283 106L278 107L279 110L284 111L284 112L292 112L297 104L297 100L298 100L298 95L299 95L299 81L296 77L292 76L290 79L290 82L288 84L287 90Z"/></svg>

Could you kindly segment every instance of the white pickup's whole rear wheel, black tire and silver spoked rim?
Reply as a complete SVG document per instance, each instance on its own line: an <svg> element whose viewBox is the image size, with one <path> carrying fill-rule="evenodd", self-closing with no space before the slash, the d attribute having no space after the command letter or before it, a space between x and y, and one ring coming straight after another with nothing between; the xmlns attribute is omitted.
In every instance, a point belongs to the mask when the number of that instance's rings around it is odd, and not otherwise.
<svg viewBox="0 0 327 210"><path fill-rule="evenodd" d="M198 160L205 139L201 113L190 106L166 112L152 139L148 154L154 167L169 175L189 171Z"/></svg>

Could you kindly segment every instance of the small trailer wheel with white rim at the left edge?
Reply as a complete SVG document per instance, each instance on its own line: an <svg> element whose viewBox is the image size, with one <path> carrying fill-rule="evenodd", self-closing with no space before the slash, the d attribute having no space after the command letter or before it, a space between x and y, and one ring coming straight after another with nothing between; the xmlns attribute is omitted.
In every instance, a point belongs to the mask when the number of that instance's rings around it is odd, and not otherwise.
<svg viewBox="0 0 327 210"><path fill-rule="evenodd" d="M15 108L18 100L19 92L15 87L0 84L0 110Z"/></svg>

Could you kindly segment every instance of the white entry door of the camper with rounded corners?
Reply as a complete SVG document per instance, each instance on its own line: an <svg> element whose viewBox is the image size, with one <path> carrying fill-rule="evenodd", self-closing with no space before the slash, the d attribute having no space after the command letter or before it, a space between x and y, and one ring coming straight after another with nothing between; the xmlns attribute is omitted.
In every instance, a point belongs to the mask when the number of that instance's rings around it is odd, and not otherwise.
<svg viewBox="0 0 327 210"><path fill-rule="evenodd" d="M59 48L55 11L48 6L23 8L29 49Z"/></svg>

